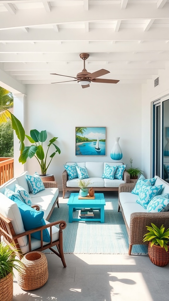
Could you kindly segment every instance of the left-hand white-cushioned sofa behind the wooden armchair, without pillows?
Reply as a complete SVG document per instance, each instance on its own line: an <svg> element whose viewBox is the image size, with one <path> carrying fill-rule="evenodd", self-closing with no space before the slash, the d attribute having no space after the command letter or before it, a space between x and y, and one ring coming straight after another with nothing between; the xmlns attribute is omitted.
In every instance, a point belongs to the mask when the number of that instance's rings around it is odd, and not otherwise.
<svg viewBox="0 0 169 301"><path fill-rule="evenodd" d="M20 185L23 187L30 195L31 200L32 200L32 206L38 205L40 207L40 210L44 212L44 219L48 220L49 217L51 216L52 210L54 209L56 203L57 206L59 207L59 202L58 202L58 194L59 190L57 188L57 183L52 182L53 187L51 188L45 188L45 190L42 190L38 192L37 194L32 194L29 192L29 186L28 182L26 180L26 176L29 175L29 172L23 172L21 175L9 180L2 186L0 186L0 199L1 200L6 200L6 197L4 195L5 188L8 187L12 191L15 191L15 184ZM51 182L46 182L48 186L48 183Z"/></svg>

